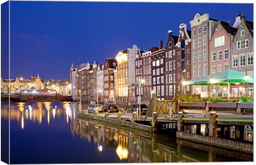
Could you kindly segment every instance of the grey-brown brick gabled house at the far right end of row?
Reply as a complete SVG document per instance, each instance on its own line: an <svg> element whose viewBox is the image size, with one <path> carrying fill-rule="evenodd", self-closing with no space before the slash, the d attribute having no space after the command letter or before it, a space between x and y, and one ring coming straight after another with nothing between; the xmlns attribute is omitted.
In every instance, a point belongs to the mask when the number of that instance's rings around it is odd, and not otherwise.
<svg viewBox="0 0 256 165"><path fill-rule="evenodd" d="M240 24L236 27L237 33L231 42L231 69L239 72L254 74L254 38L253 23L238 15ZM235 24L234 24L235 25ZM244 87L232 87L232 94L239 97L245 94ZM253 85L248 85L247 94L253 96Z"/></svg>

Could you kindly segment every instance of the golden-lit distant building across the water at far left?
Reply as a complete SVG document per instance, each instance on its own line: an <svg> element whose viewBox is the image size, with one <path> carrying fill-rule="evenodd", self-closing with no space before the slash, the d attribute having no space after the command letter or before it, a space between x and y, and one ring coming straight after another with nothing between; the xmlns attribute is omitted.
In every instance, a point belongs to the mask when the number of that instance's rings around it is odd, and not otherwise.
<svg viewBox="0 0 256 165"><path fill-rule="evenodd" d="M39 74L37 77L31 76L30 79L2 79L1 92L21 92L22 90L44 89L44 83L41 81Z"/></svg>

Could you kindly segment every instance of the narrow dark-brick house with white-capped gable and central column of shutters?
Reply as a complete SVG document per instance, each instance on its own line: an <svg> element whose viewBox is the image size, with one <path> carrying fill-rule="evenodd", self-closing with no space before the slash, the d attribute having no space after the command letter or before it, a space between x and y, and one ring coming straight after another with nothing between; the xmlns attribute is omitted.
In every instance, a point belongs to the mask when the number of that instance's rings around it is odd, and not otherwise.
<svg viewBox="0 0 256 165"><path fill-rule="evenodd" d="M180 34L176 44L177 54L177 94L191 94L189 85L183 81L191 80L191 31L186 24L180 24Z"/></svg>

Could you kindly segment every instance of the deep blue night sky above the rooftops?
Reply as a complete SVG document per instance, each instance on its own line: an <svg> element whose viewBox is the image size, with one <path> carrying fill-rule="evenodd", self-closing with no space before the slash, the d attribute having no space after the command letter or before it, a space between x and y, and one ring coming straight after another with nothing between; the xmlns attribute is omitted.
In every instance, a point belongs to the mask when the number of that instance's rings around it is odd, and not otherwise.
<svg viewBox="0 0 256 165"><path fill-rule="evenodd" d="M165 45L167 31L178 35L181 23L190 29L196 13L233 24L238 12L253 21L252 4L11 1L10 77L39 73L42 79L67 80L72 62L103 63L133 45ZM8 75L2 72L2 78Z"/></svg>

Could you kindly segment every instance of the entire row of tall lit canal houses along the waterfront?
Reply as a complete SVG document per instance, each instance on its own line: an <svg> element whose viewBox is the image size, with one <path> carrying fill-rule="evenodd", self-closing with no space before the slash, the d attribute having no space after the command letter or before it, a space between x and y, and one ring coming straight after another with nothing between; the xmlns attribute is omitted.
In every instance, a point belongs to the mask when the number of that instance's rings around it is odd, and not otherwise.
<svg viewBox="0 0 256 165"><path fill-rule="evenodd" d="M139 94L146 104L153 93L158 99L172 99L175 93L207 97L211 87L185 86L182 82L228 69L253 74L253 22L243 14L238 13L233 26L229 21L211 19L209 14L195 14L190 29L180 24L178 36L169 30L166 44L161 40L158 47L148 51L133 45L113 59L106 57L104 64L72 65L73 99L81 95L82 101L97 101L98 96L100 103L127 106L136 103ZM235 86L230 93L238 97L244 90ZM252 91L249 86L248 94ZM219 97L227 96L227 92L225 87L213 89Z"/></svg>

